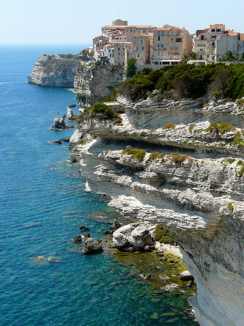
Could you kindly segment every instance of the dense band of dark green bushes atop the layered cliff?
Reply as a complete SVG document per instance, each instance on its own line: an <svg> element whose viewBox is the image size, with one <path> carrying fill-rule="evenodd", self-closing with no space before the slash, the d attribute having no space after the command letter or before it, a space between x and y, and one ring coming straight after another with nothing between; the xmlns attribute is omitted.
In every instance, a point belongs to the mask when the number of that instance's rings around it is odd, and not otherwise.
<svg viewBox="0 0 244 326"><path fill-rule="evenodd" d="M244 96L244 65L195 66L182 62L158 70L143 68L116 86L118 94L131 100L145 99L154 90L173 99L198 98L205 94L210 98L240 98Z"/></svg>

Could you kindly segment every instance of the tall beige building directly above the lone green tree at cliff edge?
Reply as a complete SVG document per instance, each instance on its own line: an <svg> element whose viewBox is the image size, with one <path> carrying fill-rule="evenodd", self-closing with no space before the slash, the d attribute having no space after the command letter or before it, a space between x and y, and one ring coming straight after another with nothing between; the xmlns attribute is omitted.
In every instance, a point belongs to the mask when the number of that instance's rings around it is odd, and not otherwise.
<svg viewBox="0 0 244 326"><path fill-rule="evenodd" d="M129 59L135 58L138 64L150 63L150 36L137 33L132 36L132 50Z"/></svg>

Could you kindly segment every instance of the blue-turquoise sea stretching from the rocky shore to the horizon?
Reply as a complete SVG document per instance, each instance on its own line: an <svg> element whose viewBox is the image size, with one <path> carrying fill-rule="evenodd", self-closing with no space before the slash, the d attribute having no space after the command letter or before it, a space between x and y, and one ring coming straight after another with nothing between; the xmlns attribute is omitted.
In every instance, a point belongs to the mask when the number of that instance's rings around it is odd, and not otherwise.
<svg viewBox="0 0 244 326"><path fill-rule="evenodd" d="M130 266L84 255L72 241L81 225L100 238L112 208L85 191L68 143L50 142L71 137L74 129L50 128L75 94L28 84L27 75L44 53L84 47L0 46L0 326L195 325L185 297L155 292Z"/></svg>

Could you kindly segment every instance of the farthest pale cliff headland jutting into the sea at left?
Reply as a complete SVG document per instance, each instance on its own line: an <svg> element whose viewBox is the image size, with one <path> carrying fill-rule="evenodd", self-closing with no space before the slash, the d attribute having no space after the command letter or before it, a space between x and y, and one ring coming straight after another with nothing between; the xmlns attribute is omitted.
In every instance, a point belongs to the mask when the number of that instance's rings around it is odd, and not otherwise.
<svg viewBox="0 0 244 326"><path fill-rule="evenodd" d="M34 64L28 83L43 87L74 87L78 55L44 55Z"/></svg>

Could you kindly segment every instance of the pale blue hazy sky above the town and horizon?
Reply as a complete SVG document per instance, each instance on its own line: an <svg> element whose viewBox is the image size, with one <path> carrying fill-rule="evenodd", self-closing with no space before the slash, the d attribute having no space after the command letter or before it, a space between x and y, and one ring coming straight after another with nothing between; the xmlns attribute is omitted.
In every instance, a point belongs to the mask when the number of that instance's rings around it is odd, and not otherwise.
<svg viewBox="0 0 244 326"><path fill-rule="evenodd" d="M184 26L190 33L224 23L244 33L243 0L1 0L0 44L92 44L110 20Z"/></svg>

